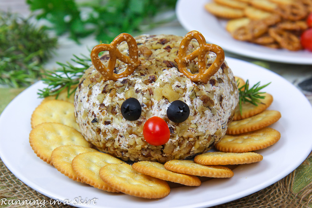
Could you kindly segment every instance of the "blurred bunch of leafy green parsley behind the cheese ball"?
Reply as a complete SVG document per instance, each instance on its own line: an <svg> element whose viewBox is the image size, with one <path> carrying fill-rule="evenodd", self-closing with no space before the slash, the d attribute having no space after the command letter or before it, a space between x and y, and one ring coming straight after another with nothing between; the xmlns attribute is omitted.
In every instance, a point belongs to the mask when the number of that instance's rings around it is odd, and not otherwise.
<svg viewBox="0 0 312 208"><path fill-rule="evenodd" d="M153 17L173 9L177 0L27 0L37 18L47 19L58 35L79 38L94 34L100 42L111 42L122 32L140 31L140 25L155 25ZM170 18L168 19L170 20Z"/></svg>

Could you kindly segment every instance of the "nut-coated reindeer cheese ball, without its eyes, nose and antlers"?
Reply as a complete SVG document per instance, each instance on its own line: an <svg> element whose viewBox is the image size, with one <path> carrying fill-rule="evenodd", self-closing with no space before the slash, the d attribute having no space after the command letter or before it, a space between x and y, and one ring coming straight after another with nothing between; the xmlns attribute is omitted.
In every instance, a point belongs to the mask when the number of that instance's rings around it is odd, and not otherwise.
<svg viewBox="0 0 312 208"><path fill-rule="evenodd" d="M76 121L85 139L100 151L125 161L166 162L211 149L226 133L238 104L237 85L227 63L207 84L194 83L179 72L174 61L183 37L141 35L135 39L141 64L132 75L104 82L95 67L90 66L81 77L74 105ZM192 40L187 47L190 54L198 43ZM118 49L129 55L125 41ZM215 58L214 53L207 53L207 68ZM100 56L106 67L109 59L107 51ZM120 73L126 67L117 60L114 72ZM188 70L197 73L197 59L188 63ZM129 98L136 99L141 106L141 115L136 120L122 115L121 105ZM167 109L176 100L189 107L189 115L183 122L168 119ZM163 145L155 146L144 139L144 124L154 116L168 125L170 138Z"/></svg>

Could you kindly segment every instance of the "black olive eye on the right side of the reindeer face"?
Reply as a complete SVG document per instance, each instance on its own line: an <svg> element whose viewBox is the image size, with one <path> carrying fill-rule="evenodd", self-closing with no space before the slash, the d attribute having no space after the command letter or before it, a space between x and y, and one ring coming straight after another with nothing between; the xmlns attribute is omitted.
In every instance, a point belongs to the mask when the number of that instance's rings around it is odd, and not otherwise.
<svg viewBox="0 0 312 208"><path fill-rule="evenodd" d="M188 119L190 115L190 108L188 104L181 100L175 100L169 104L167 109L167 116L170 121L181 123Z"/></svg>

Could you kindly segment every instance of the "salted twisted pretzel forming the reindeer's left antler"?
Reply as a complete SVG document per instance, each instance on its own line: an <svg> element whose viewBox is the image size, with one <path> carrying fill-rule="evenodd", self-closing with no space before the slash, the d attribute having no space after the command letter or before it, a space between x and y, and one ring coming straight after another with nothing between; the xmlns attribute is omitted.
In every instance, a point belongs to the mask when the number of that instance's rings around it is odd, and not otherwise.
<svg viewBox="0 0 312 208"><path fill-rule="evenodd" d="M123 41L127 42L129 56L123 55L117 48L117 46ZM110 54L110 60L108 62L107 68L99 58L99 53L101 51L108 51ZM128 65L127 68L119 74L114 73L117 59ZM121 33L110 44L103 43L95 46L91 51L91 61L95 69L103 76L103 81L117 81L119 78L131 75L134 70L141 64L141 61L138 59L138 45L135 39L128 33Z"/></svg>

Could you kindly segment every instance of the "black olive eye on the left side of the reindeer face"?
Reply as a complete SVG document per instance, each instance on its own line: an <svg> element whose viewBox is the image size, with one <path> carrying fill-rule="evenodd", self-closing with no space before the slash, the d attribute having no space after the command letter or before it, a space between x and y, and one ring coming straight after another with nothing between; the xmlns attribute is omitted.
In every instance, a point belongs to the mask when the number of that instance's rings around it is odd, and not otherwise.
<svg viewBox="0 0 312 208"><path fill-rule="evenodd" d="M124 119L129 121L138 120L142 113L142 107L139 100L135 98L126 99L120 107L121 114Z"/></svg>

